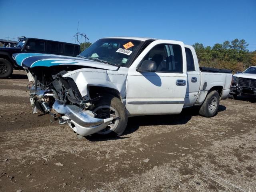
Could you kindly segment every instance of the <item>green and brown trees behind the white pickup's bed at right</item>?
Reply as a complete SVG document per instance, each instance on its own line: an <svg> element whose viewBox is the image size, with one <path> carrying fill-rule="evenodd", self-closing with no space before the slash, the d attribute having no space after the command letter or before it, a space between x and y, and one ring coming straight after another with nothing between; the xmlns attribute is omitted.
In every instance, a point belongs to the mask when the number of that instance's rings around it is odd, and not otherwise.
<svg viewBox="0 0 256 192"><path fill-rule="evenodd" d="M231 42L216 43L212 47L205 47L202 43L192 46L200 66L230 69L235 73L256 65L256 50L250 52L248 45L244 39L234 39Z"/></svg>

